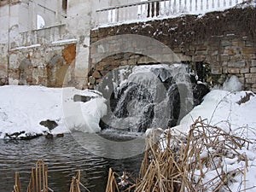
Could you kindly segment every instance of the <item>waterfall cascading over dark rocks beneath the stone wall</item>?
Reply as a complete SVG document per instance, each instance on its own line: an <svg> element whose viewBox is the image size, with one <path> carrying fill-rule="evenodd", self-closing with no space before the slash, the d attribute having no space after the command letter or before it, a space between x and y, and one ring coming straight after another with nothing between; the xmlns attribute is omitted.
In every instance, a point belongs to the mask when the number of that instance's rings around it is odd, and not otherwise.
<svg viewBox="0 0 256 192"><path fill-rule="evenodd" d="M113 70L98 87L108 99L108 115L101 125L136 132L177 125L194 107L195 84L190 79L185 64Z"/></svg>

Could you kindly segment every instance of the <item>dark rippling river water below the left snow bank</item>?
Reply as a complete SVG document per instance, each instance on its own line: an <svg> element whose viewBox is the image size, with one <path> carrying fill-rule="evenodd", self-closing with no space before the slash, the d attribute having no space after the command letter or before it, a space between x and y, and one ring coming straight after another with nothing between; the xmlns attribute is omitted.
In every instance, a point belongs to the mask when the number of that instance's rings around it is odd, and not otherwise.
<svg viewBox="0 0 256 192"><path fill-rule="evenodd" d="M20 172L22 191L26 191L31 168L37 160L44 160L48 166L49 187L56 192L68 192L71 178L78 170L84 186L91 192L103 192L110 167L119 174L131 172L137 177L143 160L143 145L137 143L143 143L144 139L132 138L113 133L76 132L53 139L0 140L0 192L13 190L15 172Z"/></svg>

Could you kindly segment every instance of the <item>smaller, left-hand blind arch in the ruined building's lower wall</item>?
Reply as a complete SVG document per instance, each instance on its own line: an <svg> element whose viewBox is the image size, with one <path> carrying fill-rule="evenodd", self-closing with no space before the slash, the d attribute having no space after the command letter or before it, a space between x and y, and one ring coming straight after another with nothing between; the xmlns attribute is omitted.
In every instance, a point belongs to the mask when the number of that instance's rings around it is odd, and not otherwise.
<svg viewBox="0 0 256 192"><path fill-rule="evenodd" d="M20 62L19 71L19 84L32 84L32 61L29 59L24 59Z"/></svg>

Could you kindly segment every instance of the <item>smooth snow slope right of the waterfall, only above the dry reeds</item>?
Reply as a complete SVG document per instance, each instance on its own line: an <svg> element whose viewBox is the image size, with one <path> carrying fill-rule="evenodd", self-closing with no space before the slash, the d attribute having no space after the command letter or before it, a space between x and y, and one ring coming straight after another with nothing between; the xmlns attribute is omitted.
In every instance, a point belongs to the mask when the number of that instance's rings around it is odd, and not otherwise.
<svg viewBox="0 0 256 192"><path fill-rule="evenodd" d="M236 133L245 128L250 135L248 131L256 128L256 96L251 91L238 90L241 90L241 84L236 77L231 77L224 87L211 90L201 105L183 117L177 129L187 131L189 125L201 116L207 119L208 124L217 125L225 131Z"/></svg>

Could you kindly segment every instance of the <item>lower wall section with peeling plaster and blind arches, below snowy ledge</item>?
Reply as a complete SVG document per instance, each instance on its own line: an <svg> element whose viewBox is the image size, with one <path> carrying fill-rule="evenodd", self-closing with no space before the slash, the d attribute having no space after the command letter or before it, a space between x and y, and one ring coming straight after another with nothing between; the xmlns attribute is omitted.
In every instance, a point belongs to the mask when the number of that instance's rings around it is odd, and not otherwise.
<svg viewBox="0 0 256 192"><path fill-rule="evenodd" d="M9 84L49 87L75 85L76 44L35 46L9 51Z"/></svg>

